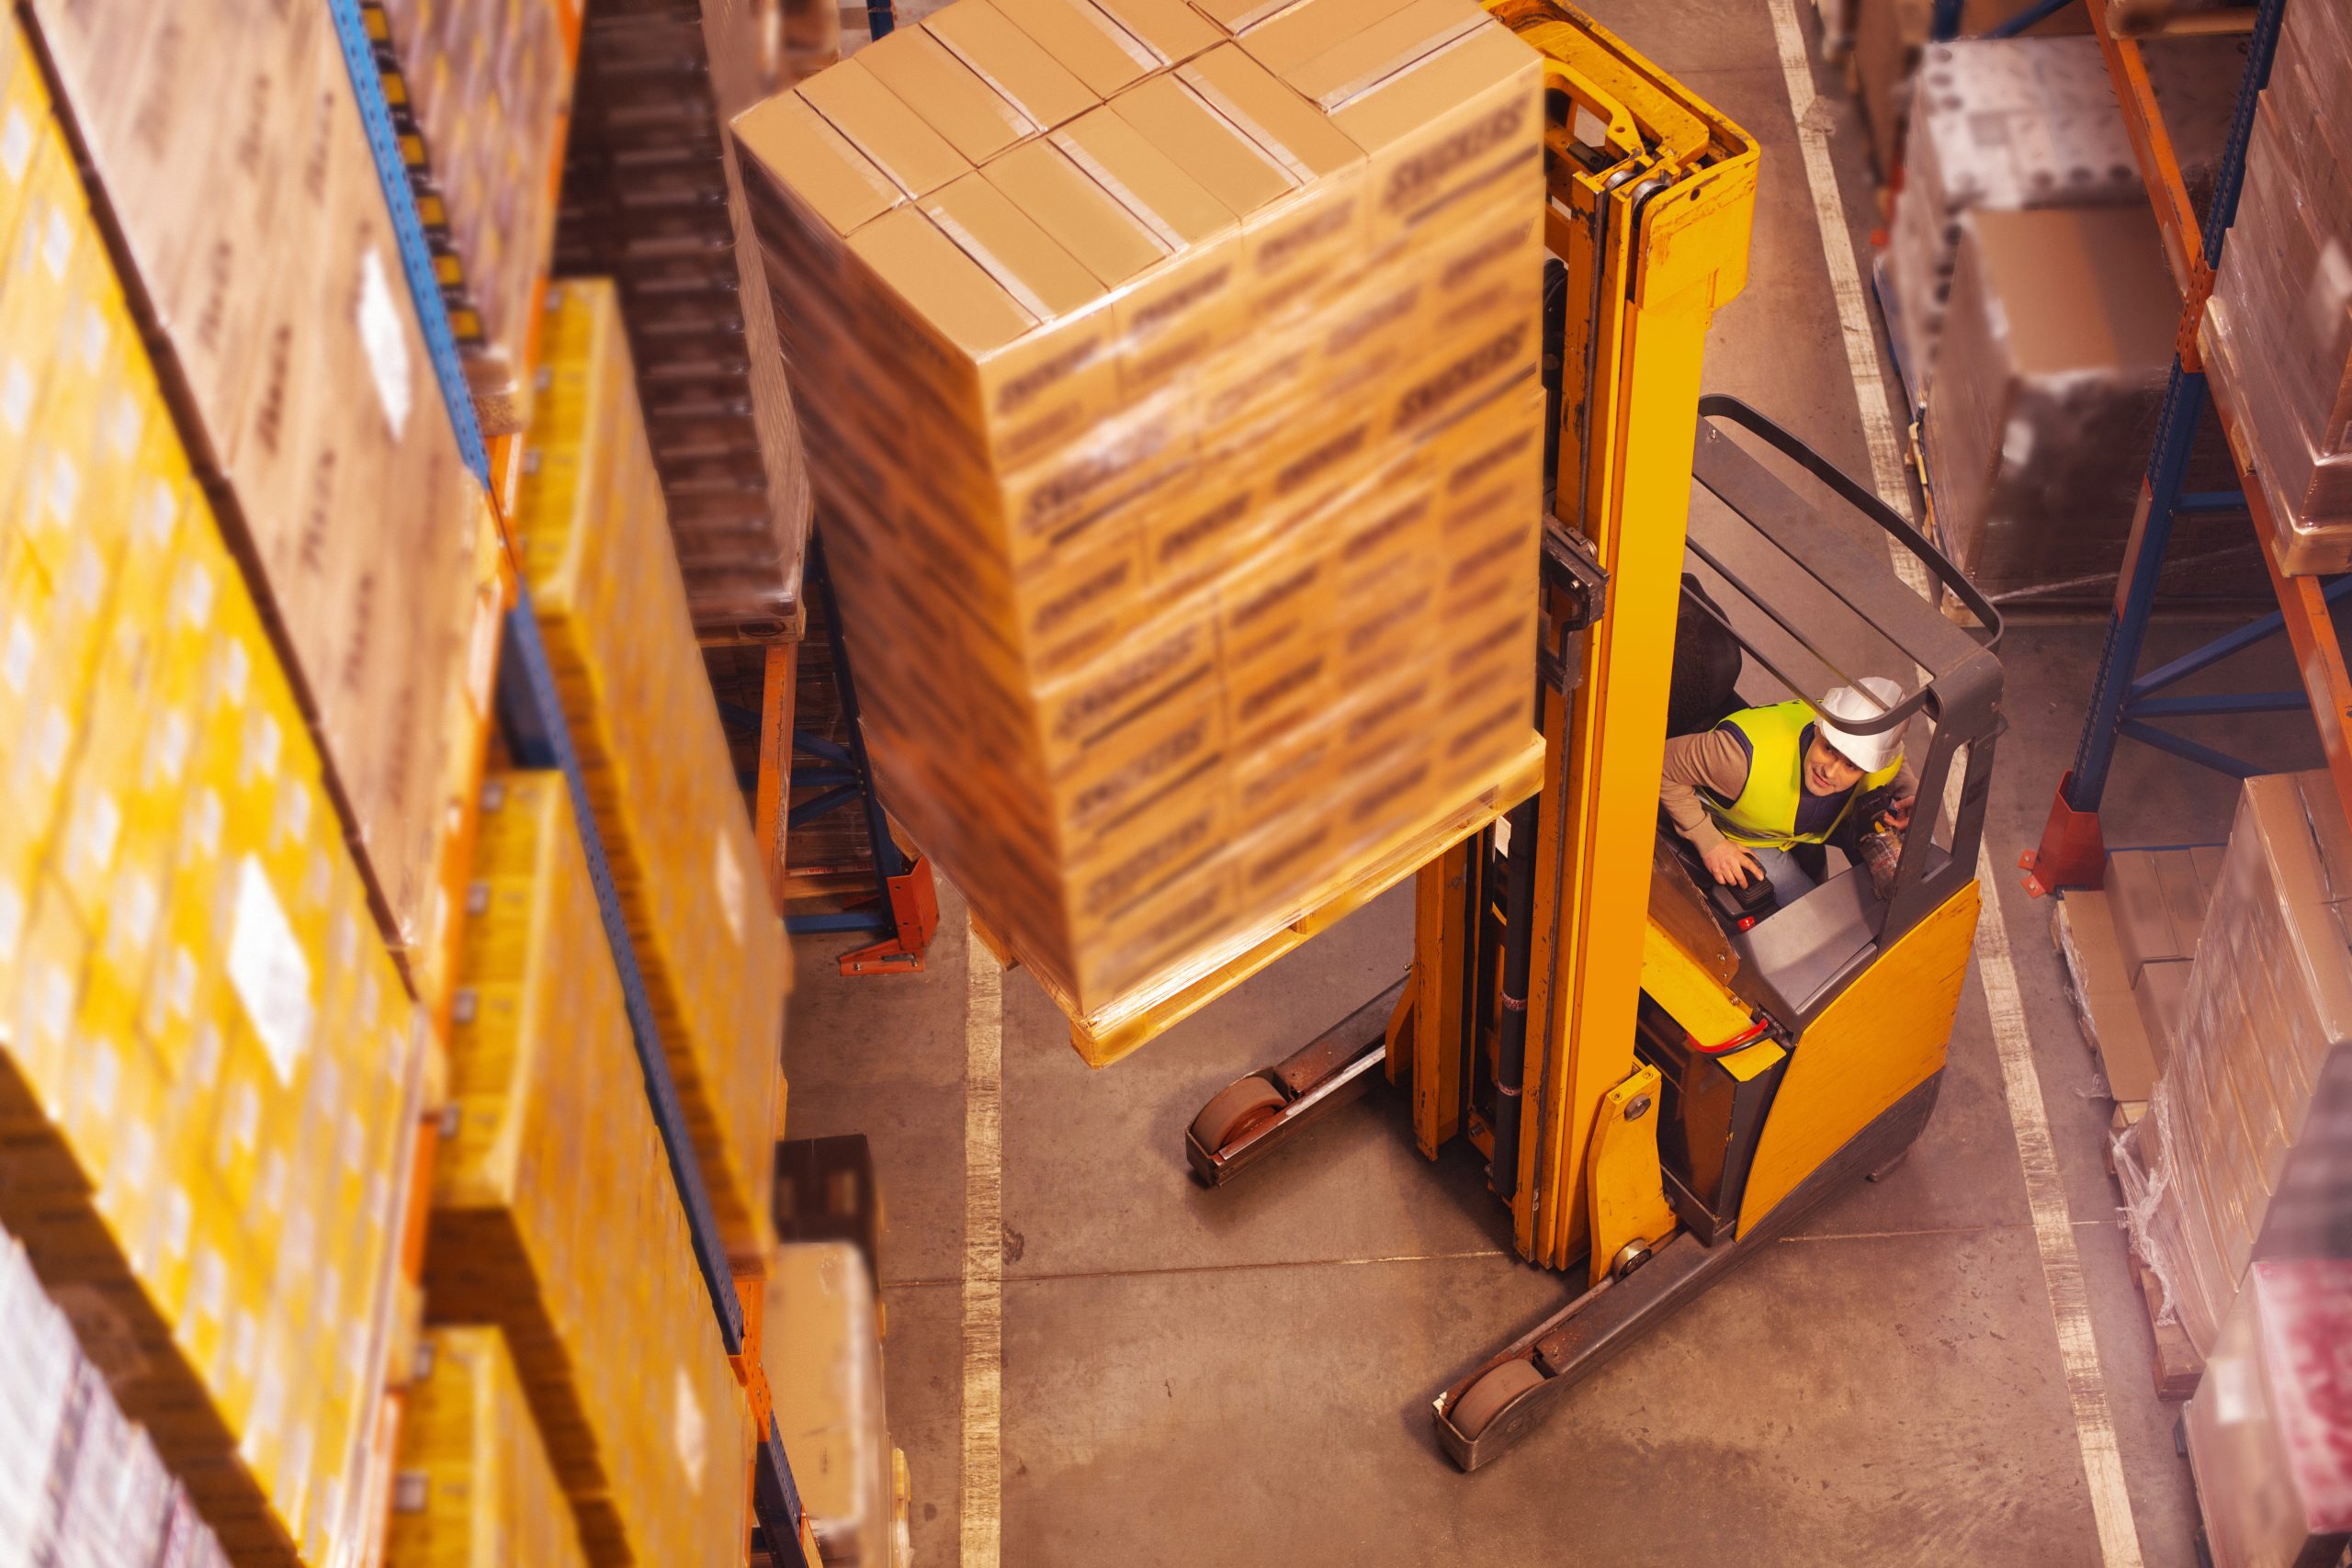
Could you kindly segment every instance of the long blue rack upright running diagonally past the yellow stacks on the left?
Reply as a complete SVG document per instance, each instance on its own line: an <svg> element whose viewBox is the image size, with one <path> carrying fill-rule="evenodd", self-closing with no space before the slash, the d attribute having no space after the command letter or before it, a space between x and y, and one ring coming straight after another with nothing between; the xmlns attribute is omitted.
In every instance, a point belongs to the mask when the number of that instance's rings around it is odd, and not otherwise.
<svg viewBox="0 0 2352 1568"><path fill-rule="evenodd" d="M473 393L466 386L466 367L456 353L456 331L449 327L449 310L433 273L433 252L426 244L423 219L416 212L416 190L409 183L407 162L400 158L400 141L393 129L390 103L383 96L374 42L367 38L358 0L327 0L327 5L343 49L343 63L350 68L353 92L360 99L367 143L376 158L376 181L383 186L386 207L390 207L393 233L400 242L400 266L409 280L409 299L416 303L416 317L423 324L433 374L442 388L442 404L456 428L466 465L489 489L489 447L482 442ZM694 1260L710 1293L720 1340L727 1354L736 1356L743 1352L743 1305L736 1300L734 1272L727 1267L727 1251L720 1244L717 1220L710 1213L710 1194L703 1187L701 1164L694 1159L694 1140L677 1107L670 1063L663 1056L661 1032L654 1025L654 1011L644 992L644 971L637 966L637 952L628 938L628 919L621 912L621 896L612 882L612 863L604 856L595 809L588 802L588 780L581 773L579 750L572 745L572 729L564 724L555 672L539 637L529 590L520 585L515 607L506 611L499 649L499 722L506 731L508 750L517 762L524 766L560 769L572 792L572 816L579 823L581 849L588 858L588 877L595 884L604 936L612 943L614 969L621 976L621 997L628 1011L630 1037L637 1046L637 1067L644 1074L644 1093L654 1110L654 1124L661 1128L661 1145L668 1154L670 1180L677 1185L677 1201L687 1211ZM783 1453L783 1441L776 1436L774 1415L755 1455L753 1509L760 1519L769 1556L788 1568L811 1568L800 1549L800 1486L793 1481L793 1465Z"/></svg>

